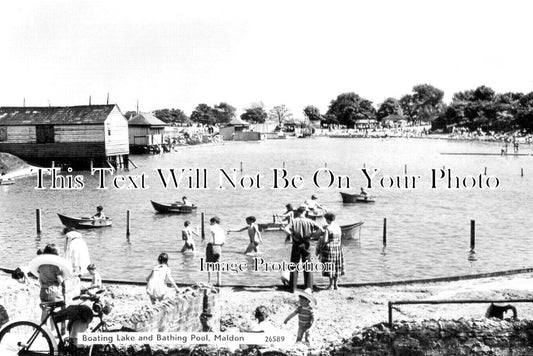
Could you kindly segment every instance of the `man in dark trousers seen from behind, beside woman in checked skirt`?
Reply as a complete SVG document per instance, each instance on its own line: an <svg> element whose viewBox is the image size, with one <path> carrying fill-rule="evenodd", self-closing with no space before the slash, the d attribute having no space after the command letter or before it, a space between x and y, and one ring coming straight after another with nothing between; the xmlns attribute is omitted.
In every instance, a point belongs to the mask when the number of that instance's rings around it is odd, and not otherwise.
<svg viewBox="0 0 533 356"><path fill-rule="evenodd" d="M291 262L311 262L311 237L323 234L324 229L316 222L305 217L307 206L302 205L296 210L295 218L285 227L285 232L292 237ZM313 289L313 274L304 271L305 288ZM291 291L298 287L298 271L291 272L289 281Z"/></svg>

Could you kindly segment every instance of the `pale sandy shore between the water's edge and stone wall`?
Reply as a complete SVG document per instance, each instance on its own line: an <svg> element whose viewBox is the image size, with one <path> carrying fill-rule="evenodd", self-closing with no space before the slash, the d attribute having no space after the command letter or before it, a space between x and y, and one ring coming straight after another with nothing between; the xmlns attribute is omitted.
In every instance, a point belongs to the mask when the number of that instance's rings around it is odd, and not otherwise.
<svg viewBox="0 0 533 356"><path fill-rule="evenodd" d="M0 292L25 288L0 275ZM107 285L114 296L112 317L131 312L149 304L144 286ZM504 277L481 278L440 283L415 283L396 286L350 287L324 290L315 293L315 323L311 329L311 348L295 345L297 320L283 324L284 319L297 305L297 297L276 288L222 287L218 307L221 331L236 332L253 325L253 311L263 305L270 313L274 327L287 336L289 343L284 350L319 353L339 345L363 328L387 322L389 301L399 300L460 300L460 299L516 299L533 298L533 273ZM483 319L487 304L411 305L394 310L394 320L429 319ZM515 304L520 319L533 319L533 305Z"/></svg>

